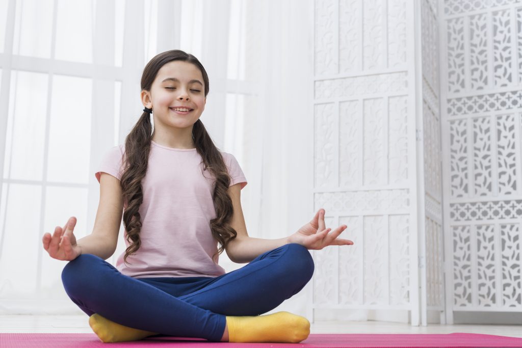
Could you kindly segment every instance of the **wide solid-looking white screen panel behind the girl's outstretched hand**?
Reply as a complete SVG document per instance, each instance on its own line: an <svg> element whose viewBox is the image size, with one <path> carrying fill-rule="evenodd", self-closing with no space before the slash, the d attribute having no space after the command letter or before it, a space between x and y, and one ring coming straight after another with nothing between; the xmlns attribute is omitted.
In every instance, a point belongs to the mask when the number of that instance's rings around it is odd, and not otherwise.
<svg viewBox="0 0 522 348"><path fill-rule="evenodd" d="M315 318L419 321L414 10L315 1L314 203L354 242L314 251Z"/></svg>

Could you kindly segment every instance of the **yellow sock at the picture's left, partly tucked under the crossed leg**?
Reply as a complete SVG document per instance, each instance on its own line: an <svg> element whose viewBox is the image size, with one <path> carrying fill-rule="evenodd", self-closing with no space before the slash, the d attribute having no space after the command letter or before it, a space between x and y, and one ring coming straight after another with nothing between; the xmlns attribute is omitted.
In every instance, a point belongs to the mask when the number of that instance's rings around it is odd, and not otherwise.
<svg viewBox="0 0 522 348"><path fill-rule="evenodd" d="M158 334L156 332L123 326L117 322L104 318L97 313L94 313L89 317L89 325L91 326L92 331L94 331L100 340L105 343L137 341Z"/></svg>

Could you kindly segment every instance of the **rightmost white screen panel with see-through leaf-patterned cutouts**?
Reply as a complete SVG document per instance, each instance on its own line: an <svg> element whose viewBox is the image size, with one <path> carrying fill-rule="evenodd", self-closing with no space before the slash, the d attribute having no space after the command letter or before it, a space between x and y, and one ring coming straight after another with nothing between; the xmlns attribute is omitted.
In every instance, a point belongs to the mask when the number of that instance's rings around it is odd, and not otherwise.
<svg viewBox="0 0 522 348"><path fill-rule="evenodd" d="M448 322L522 311L522 2L441 4Z"/></svg>

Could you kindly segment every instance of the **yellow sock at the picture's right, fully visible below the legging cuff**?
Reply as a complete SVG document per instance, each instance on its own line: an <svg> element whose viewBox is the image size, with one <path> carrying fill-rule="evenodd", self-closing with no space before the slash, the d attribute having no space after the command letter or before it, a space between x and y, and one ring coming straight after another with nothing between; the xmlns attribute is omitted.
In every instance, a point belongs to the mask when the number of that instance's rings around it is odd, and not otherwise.
<svg viewBox="0 0 522 348"><path fill-rule="evenodd" d="M287 311L226 318L229 342L299 343L310 334L310 321Z"/></svg>

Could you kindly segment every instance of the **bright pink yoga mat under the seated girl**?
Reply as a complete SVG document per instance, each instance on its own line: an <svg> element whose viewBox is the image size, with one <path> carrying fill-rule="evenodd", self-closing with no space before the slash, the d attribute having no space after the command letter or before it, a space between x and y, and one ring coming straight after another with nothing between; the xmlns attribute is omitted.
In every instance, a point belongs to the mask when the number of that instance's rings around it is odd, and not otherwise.
<svg viewBox="0 0 522 348"><path fill-rule="evenodd" d="M328 347L328 348L522 348L522 338L479 333L312 333L301 343L217 343L196 338L151 337L103 343L94 333L0 333L2 348L122 347Z"/></svg>

